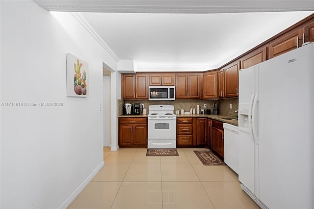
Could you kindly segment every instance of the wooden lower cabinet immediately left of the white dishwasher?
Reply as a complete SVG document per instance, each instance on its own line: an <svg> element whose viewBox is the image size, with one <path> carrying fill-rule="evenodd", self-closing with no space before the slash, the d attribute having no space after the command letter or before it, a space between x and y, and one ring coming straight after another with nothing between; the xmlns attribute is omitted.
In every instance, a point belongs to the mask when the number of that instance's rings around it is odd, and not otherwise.
<svg viewBox="0 0 314 209"><path fill-rule="evenodd" d="M212 120L212 151L224 159L224 131L223 123Z"/></svg>

